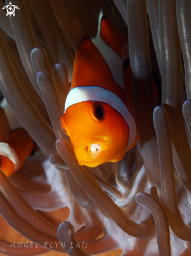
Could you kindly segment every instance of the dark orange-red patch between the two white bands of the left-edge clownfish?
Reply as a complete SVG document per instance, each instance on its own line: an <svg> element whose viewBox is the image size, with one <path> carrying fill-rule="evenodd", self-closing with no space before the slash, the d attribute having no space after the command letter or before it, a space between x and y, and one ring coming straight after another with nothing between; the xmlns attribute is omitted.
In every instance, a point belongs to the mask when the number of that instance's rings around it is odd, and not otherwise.
<svg viewBox="0 0 191 256"><path fill-rule="evenodd" d="M11 131L5 111L0 107L0 142L9 140L9 133Z"/></svg>

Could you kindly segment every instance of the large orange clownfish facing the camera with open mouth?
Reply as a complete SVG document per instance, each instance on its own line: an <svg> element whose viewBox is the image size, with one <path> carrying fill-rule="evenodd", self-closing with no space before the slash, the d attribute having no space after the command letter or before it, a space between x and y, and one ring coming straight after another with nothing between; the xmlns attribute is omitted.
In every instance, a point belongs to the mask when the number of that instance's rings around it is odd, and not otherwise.
<svg viewBox="0 0 191 256"><path fill-rule="evenodd" d="M120 161L137 141L128 38L103 15L97 36L78 43L61 128L89 167Z"/></svg>

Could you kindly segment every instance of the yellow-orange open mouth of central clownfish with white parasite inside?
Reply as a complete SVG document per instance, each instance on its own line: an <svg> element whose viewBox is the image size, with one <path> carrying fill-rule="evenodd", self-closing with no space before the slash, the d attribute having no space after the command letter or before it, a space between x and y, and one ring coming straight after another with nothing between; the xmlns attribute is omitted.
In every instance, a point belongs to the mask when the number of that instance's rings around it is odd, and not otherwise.
<svg viewBox="0 0 191 256"><path fill-rule="evenodd" d="M79 165L96 167L107 161L110 145L100 138L85 139L76 144L74 152Z"/></svg>

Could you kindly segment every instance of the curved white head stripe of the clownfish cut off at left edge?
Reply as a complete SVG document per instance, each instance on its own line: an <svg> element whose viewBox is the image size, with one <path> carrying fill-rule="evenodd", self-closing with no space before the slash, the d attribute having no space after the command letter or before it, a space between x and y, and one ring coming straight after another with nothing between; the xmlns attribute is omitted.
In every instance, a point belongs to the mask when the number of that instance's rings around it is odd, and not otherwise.
<svg viewBox="0 0 191 256"><path fill-rule="evenodd" d="M10 161L13 162L15 171L19 166L19 158L18 155L15 153L14 149L9 146L7 143L0 142L0 155L7 157Z"/></svg>

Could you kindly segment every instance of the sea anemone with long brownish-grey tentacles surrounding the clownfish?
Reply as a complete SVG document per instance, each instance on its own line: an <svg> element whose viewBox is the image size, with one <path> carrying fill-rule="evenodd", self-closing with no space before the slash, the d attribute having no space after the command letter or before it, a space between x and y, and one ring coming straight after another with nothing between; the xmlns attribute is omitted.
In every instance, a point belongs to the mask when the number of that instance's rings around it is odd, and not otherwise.
<svg viewBox="0 0 191 256"><path fill-rule="evenodd" d="M0 171L0 253L190 255L190 1L13 4L14 17L0 15L1 98L38 150L11 177ZM95 36L100 9L129 38L139 139L118 163L87 168L60 118L76 44ZM156 109L152 69L162 84Z"/></svg>

